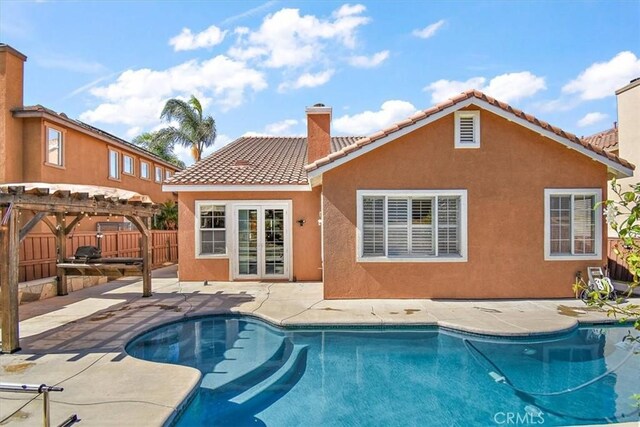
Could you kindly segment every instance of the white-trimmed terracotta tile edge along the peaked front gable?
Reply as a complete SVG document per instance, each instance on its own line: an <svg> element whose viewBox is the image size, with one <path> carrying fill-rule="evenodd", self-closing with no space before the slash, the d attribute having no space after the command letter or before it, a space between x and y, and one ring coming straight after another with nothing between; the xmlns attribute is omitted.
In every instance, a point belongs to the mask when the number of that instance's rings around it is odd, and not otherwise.
<svg viewBox="0 0 640 427"><path fill-rule="evenodd" d="M342 157L347 156L348 154L357 151L359 149L361 149L362 147L369 145L381 138L384 138L402 128L405 128L407 126L411 126L421 120L424 120L426 118L428 118L429 116L432 116L433 114L436 114L442 110L445 110L449 107L452 107L462 101L465 101L467 99L470 98L477 98L480 99L482 101L488 102L489 104L491 104L492 106L498 107L508 113L514 114L515 116L524 119L526 121L528 121L529 123L532 123L544 130L547 130L549 132L553 132L558 136L561 136L563 138L566 138L567 140L571 141L572 143L576 144L576 146L582 146L590 151L593 151L594 153L605 157L613 162L616 162L626 168L630 168L633 169L634 166L629 163L628 161L619 158L618 156L616 156L615 154L612 154L606 150L604 150L602 147L598 147L595 145L591 145L588 142L578 138L576 135L569 133L569 132L565 132L562 129L552 126L547 122L544 122L542 120L537 119L536 117L530 115L530 114L526 114L524 112L522 112L521 110L518 110L516 108L511 107L509 104L506 104L504 102L498 101L490 96L485 95L484 93L478 91L478 90L469 90L466 92L463 92L457 96L452 97L451 99L440 103L438 105L435 105L427 110L424 111L419 111L418 113L414 114L413 116L395 123L389 127L387 127L384 130L378 131L372 135L369 135L366 138L362 138L359 139L357 142L348 145L346 147L342 147L339 151L335 151L331 154L329 154L326 157L323 157L321 159L316 160L313 163L308 164L307 166L305 166L305 169L307 172L313 171L315 169L318 169L321 166L327 165L329 163L334 162L337 159L340 159Z"/></svg>

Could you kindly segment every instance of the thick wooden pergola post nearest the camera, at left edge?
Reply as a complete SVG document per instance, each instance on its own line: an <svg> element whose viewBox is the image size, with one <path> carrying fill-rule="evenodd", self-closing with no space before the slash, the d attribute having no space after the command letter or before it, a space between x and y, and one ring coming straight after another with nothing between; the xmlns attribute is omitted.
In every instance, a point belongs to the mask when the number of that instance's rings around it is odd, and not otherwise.
<svg viewBox="0 0 640 427"><path fill-rule="evenodd" d="M20 350L18 305L18 261L20 252L19 210L11 209L8 224L0 227L0 248L6 256L0 259L2 289L2 352Z"/></svg>

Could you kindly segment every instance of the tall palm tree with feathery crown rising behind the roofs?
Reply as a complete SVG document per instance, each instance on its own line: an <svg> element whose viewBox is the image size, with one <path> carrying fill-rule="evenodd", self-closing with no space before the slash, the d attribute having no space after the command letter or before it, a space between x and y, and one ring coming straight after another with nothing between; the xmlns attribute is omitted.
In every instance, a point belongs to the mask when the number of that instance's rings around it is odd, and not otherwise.
<svg viewBox="0 0 640 427"><path fill-rule="evenodd" d="M190 148L196 162L200 160L204 149L216 140L216 121L211 116L202 115L202 105L193 95L189 101L168 100L160 118L167 123L177 122L177 127L160 129L156 137Z"/></svg>

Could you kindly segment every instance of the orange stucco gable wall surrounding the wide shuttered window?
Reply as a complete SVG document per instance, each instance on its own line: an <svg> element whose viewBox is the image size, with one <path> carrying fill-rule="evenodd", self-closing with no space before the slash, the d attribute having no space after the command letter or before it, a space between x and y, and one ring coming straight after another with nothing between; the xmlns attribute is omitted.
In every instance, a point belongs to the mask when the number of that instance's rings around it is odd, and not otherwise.
<svg viewBox="0 0 640 427"><path fill-rule="evenodd" d="M605 263L606 236L602 261L544 260L544 189L606 194L606 167L486 111L481 132L454 149L451 114L324 174L326 298L569 297L576 271ZM360 189L467 189L468 261L356 262Z"/></svg>

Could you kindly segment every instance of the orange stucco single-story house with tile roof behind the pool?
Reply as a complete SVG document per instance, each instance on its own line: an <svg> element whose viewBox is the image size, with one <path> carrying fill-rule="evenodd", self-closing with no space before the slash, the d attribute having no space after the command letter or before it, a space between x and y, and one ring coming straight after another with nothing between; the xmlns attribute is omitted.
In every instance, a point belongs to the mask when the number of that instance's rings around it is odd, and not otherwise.
<svg viewBox="0 0 640 427"><path fill-rule="evenodd" d="M478 91L368 137L243 137L175 174L181 280L325 298L548 298L606 263L597 203L634 166ZM594 209L595 207L595 209Z"/></svg>

